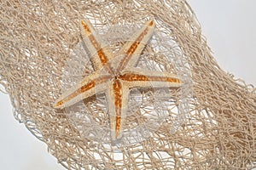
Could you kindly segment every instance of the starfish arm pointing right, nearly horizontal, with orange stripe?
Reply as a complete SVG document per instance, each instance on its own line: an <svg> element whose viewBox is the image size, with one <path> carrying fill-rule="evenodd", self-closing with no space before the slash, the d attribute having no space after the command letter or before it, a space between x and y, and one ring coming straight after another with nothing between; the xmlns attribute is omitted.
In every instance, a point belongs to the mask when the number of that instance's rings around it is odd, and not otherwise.
<svg viewBox="0 0 256 170"><path fill-rule="evenodd" d="M176 74L166 71L144 71L139 68L122 72L119 79L129 88L179 88L182 85L182 82Z"/></svg>

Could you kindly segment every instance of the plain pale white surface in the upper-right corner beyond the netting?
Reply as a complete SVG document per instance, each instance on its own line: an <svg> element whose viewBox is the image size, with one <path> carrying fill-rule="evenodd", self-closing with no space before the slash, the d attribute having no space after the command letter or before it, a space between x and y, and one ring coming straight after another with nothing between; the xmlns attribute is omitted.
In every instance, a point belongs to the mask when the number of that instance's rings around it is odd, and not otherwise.
<svg viewBox="0 0 256 170"><path fill-rule="evenodd" d="M218 65L256 85L255 0L188 0Z"/></svg>

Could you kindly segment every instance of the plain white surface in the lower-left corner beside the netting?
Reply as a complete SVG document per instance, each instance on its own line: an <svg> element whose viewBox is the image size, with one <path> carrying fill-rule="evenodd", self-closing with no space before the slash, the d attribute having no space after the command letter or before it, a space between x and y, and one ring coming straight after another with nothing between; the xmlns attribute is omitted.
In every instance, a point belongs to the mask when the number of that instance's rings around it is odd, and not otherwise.
<svg viewBox="0 0 256 170"><path fill-rule="evenodd" d="M0 169L64 170L55 157L49 155L47 145L15 120L9 95L0 93L0 104Z"/></svg>

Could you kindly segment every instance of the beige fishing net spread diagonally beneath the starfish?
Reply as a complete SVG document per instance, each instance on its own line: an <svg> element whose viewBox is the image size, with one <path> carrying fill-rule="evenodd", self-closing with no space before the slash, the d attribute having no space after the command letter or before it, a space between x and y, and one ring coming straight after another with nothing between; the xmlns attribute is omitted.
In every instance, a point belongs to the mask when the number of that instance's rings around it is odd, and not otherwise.
<svg viewBox="0 0 256 170"><path fill-rule="evenodd" d="M255 88L218 67L186 1L2 0L0 8L0 83L15 118L67 169L256 167ZM104 95L66 110L52 106L93 71L79 29L85 18L113 51L154 19L137 66L177 73L184 82L133 89L118 144L109 139Z"/></svg>

